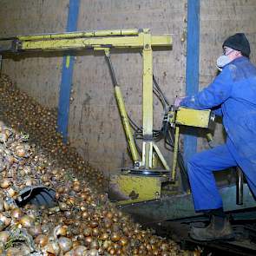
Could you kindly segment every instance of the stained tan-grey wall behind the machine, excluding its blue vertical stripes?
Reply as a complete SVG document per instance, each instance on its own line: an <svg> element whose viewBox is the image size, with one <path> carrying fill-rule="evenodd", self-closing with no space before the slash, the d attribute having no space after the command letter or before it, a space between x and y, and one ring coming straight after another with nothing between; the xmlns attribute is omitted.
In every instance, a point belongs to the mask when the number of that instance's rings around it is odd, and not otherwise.
<svg viewBox="0 0 256 256"><path fill-rule="evenodd" d="M154 52L154 75L170 102L184 95L186 73L187 0L81 0L78 30L150 28L153 34L172 34L172 51ZM0 36L62 32L69 0L1 0ZM226 36L243 31L256 62L256 2L253 0L202 0L200 6L200 88L213 80L215 60ZM141 56L113 53L112 62L128 108L141 125ZM46 106L57 107L62 56L37 55L4 60L3 72ZM103 171L130 163L104 57L87 51L75 59L74 101L70 105L69 136L80 154ZM154 99L154 126L161 125L161 104ZM223 141L222 126L215 132ZM199 150L207 143L199 140ZM125 153L125 154L123 154ZM170 158L170 154L165 152Z"/></svg>

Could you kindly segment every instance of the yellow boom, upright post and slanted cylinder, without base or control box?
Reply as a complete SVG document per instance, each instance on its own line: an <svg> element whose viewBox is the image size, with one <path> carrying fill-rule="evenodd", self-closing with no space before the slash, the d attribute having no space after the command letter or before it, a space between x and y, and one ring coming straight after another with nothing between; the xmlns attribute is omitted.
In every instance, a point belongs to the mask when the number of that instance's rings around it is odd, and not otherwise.
<svg viewBox="0 0 256 256"><path fill-rule="evenodd" d="M121 121L137 169L155 169L154 158L161 160L164 171L169 171L167 162L153 141L153 49L172 46L171 36L152 36L150 30L97 30L69 33L42 34L0 38L0 56L10 52L56 51L56 50L103 50L110 62L110 49L140 49L143 59L143 141L142 154L137 151L127 112L121 95L121 89L115 82L115 98L121 114ZM109 66L110 71L114 69Z"/></svg>

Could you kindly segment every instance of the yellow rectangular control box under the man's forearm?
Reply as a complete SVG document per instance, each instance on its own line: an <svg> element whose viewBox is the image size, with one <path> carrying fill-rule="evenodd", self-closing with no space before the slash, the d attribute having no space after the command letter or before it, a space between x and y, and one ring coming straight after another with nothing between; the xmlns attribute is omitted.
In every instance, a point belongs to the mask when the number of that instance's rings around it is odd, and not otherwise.
<svg viewBox="0 0 256 256"><path fill-rule="evenodd" d="M196 110L192 108L179 108L176 115L176 124L208 128L211 117L211 110Z"/></svg>

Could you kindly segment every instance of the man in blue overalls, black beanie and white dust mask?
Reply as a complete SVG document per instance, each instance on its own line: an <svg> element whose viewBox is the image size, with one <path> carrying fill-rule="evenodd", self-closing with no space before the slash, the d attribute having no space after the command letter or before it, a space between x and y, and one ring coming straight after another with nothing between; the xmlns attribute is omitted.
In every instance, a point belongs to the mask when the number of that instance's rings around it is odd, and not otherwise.
<svg viewBox="0 0 256 256"><path fill-rule="evenodd" d="M228 37L222 48L220 75L198 94L176 101L176 106L215 109L227 135L226 144L194 154L187 162L194 209L211 215L209 226L192 228L195 240L233 237L213 172L239 166L256 195L256 67L249 61L250 44L243 33Z"/></svg>

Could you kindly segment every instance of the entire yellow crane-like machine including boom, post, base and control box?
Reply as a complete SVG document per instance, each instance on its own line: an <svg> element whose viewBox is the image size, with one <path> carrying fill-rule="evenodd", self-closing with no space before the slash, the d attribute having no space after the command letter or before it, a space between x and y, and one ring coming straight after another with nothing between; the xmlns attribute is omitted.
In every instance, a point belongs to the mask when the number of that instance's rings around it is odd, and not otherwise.
<svg viewBox="0 0 256 256"><path fill-rule="evenodd" d="M121 204L154 200L161 197L163 183L176 181L176 165L179 154L180 126L207 128L211 119L209 110L171 109L167 122L175 128L174 161L172 170L154 143L153 138L153 49L171 49L171 36L153 36L150 30L97 30L69 33L42 34L0 38L0 59L5 53L57 50L102 50L106 56L115 90L115 99L121 115L122 126L128 141L134 167L111 178L110 183L122 195ZM110 59L111 49L139 49L142 53L142 154L138 153L135 139L128 120L121 95L121 87L116 81Z"/></svg>

